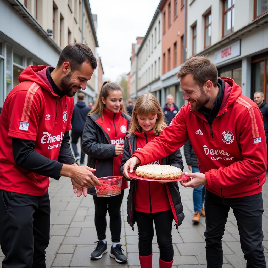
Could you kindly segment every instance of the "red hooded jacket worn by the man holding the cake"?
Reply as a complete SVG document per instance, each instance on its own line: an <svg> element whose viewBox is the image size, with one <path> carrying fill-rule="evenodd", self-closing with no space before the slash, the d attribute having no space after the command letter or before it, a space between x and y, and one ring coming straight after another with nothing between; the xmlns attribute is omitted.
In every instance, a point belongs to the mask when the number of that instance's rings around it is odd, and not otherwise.
<svg viewBox="0 0 268 268"><path fill-rule="evenodd" d="M207 190L225 198L255 195L266 180L262 114L251 99L241 94L234 80L222 79L224 96L211 127L205 116L191 111L187 103L160 136L133 156L145 165L171 154L190 139L200 172L205 173Z"/></svg>

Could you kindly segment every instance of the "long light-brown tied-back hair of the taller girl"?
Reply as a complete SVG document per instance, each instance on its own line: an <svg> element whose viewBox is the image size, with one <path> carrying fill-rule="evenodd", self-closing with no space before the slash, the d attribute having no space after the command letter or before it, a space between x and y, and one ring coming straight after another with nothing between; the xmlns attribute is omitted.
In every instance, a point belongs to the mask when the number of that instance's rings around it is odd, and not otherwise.
<svg viewBox="0 0 268 268"><path fill-rule="evenodd" d="M101 98L103 97L104 99L106 99L109 96L110 91L113 91L113 90L120 90L122 92L122 95L123 95L123 90L120 87L120 85L118 85L117 83L113 83L110 80L105 81L102 84L101 91L100 91L98 98L96 100L96 103L95 103L95 107L94 107L94 109L92 109L88 113L88 115L89 114L99 114L99 116L101 116L102 120L104 121L103 111L104 111L105 105L103 104ZM123 113L128 114L128 112L125 109L124 103L123 103L120 111L123 111Z"/></svg>

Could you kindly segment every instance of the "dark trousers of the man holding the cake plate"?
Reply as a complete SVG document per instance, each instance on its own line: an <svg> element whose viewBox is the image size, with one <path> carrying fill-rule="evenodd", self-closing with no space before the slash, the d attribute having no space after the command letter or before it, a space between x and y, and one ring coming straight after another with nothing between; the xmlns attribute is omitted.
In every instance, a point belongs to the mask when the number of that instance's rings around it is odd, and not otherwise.
<svg viewBox="0 0 268 268"><path fill-rule="evenodd" d="M262 193L240 198L221 198L206 190L206 257L208 268L221 268L222 236L230 208L233 209L247 268L265 268L262 240Z"/></svg>

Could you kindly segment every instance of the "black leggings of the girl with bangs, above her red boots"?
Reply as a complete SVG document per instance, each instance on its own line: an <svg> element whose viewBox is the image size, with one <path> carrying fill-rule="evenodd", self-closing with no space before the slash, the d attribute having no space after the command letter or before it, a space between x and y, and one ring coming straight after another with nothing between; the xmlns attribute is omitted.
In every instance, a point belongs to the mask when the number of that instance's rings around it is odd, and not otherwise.
<svg viewBox="0 0 268 268"><path fill-rule="evenodd" d="M160 259L164 262L173 260L172 221L171 210L157 213L143 213L135 210L135 219L139 230L139 254L149 256L152 254L152 239L154 225ZM154 224L153 224L154 223Z"/></svg>

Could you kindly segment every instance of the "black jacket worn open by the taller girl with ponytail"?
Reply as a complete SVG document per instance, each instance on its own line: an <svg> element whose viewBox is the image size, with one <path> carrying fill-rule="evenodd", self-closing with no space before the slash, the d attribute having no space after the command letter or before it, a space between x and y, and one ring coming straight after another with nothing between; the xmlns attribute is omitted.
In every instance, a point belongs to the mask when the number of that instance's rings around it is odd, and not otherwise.
<svg viewBox="0 0 268 268"><path fill-rule="evenodd" d="M128 120L131 117L122 113L122 117ZM87 165L91 168L97 166L94 175L97 178L113 175L113 158L116 157L115 146L111 144L109 135L98 122L98 114L90 114L87 117L82 136L82 149L88 155ZM95 187L87 190L88 194L96 195Z"/></svg>

